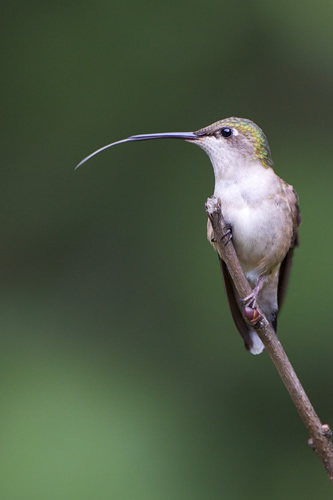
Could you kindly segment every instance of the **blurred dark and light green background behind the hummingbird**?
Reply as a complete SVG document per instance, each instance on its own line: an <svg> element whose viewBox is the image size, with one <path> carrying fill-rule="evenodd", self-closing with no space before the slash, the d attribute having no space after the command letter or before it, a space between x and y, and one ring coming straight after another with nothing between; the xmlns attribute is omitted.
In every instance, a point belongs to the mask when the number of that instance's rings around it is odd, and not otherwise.
<svg viewBox="0 0 333 500"><path fill-rule="evenodd" d="M253 119L300 197L280 338L332 399L332 2L1 8L0 497L331 498L267 354L232 323L199 148L145 132Z"/></svg>

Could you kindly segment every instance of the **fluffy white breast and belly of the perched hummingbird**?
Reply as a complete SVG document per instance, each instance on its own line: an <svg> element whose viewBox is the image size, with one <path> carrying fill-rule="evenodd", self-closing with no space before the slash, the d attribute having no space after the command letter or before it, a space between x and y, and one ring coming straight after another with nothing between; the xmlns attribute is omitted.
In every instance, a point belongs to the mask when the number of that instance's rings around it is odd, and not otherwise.
<svg viewBox="0 0 333 500"><path fill-rule="evenodd" d="M238 258L253 281L278 265L286 254L290 245L285 235L289 217L280 203L281 180L272 169L252 165L247 167L246 175L237 177L220 179L214 195L222 201Z"/></svg>

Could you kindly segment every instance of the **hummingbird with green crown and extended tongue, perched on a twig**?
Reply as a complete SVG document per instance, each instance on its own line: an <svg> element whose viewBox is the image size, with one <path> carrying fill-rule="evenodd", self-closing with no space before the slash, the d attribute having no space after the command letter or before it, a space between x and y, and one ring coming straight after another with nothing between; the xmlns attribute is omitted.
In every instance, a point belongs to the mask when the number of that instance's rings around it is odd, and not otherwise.
<svg viewBox="0 0 333 500"><path fill-rule="evenodd" d="M301 222L294 188L273 170L267 138L246 118L225 118L196 132L133 135L94 151L77 166L105 149L132 141L182 139L198 145L210 158L215 176L214 196L222 211L235 251L252 293L241 300L213 234L210 220L207 238L218 253L229 307L245 348L260 354L264 345L255 332L259 306L277 330L277 315L285 297ZM247 319L245 319L244 318Z"/></svg>

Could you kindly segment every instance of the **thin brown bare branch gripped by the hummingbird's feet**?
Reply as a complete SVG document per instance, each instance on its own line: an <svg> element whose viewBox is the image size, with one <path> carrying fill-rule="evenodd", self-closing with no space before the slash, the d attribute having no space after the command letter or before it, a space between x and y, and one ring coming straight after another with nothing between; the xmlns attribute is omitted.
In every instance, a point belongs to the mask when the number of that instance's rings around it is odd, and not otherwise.
<svg viewBox="0 0 333 500"><path fill-rule="evenodd" d="M222 215L221 200L217 200L215 196L208 198L206 212L212 223L219 254L228 268L239 297L243 299L250 295L252 290L239 264L232 240L225 244L224 235L228 231L228 226ZM256 333L263 342L310 434L308 444L322 461L329 478L333 482L332 432L328 425L321 423L271 324L260 308L258 308L258 312L262 316L262 320L260 326L256 328ZM244 319L246 320L245 317Z"/></svg>

